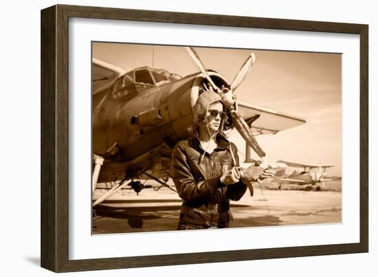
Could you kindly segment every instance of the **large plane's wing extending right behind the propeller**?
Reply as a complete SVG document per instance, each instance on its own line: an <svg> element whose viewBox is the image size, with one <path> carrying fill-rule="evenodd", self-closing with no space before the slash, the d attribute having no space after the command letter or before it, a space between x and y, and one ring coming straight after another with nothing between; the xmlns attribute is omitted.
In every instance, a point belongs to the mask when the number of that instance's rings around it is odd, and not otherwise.
<svg viewBox="0 0 378 277"><path fill-rule="evenodd" d="M278 113L272 109L258 107L247 102L238 101L238 112L256 133L278 133L306 123L304 118Z"/></svg>

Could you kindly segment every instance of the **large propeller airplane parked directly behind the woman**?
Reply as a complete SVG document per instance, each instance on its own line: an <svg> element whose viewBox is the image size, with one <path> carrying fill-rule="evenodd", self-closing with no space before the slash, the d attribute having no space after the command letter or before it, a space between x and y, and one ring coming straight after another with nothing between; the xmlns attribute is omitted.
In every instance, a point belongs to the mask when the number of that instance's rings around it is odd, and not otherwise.
<svg viewBox="0 0 378 277"><path fill-rule="evenodd" d="M184 47L183 47L184 49ZM173 148L191 133L192 107L210 87L227 107L225 134L236 129L260 157L263 149L255 135L276 134L306 120L293 115L236 101L241 84L256 56L251 53L233 82L205 69L192 47L186 51L199 71L181 77L166 69L137 67L129 72L93 57L92 60L92 192L96 184L114 186L93 202L93 207L128 186L144 188L142 179L168 185Z"/></svg>

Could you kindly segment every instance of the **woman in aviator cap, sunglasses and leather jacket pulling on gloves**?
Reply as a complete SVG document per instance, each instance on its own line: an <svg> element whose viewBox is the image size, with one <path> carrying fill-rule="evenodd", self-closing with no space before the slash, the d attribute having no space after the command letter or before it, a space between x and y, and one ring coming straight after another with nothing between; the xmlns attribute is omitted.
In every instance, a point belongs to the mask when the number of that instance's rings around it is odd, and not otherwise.
<svg viewBox="0 0 378 277"><path fill-rule="evenodd" d="M241 173L237 148L222 132L226 114L219 94L202 93L193 113L194 137L178 142L172 156L173 181L184 201L178 230L227 228L230 199L241 199L256 176L250 168Z"/></svg>

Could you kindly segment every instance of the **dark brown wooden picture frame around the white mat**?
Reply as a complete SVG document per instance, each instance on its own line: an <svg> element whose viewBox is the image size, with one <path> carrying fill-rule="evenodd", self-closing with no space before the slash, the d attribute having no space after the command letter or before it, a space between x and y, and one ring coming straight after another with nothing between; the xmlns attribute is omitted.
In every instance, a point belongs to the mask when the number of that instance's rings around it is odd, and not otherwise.
<svg viewBox="0 0 378 277"><path fill-rule="evenodd" d="M359 35L359 243L69 259L69 19ZM358 116L358 115L356 115ZM357 184L356 184L357 185ZM76 272L368 252L368 25L54 5L41 11L41 266Z"/></svg>

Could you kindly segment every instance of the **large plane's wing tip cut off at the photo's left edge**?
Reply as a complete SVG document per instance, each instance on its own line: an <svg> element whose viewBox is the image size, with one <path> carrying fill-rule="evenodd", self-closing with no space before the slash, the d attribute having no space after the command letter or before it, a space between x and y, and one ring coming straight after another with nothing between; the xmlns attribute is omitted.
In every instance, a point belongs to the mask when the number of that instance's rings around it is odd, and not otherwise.
<svg viewBox="0 0 378 277"><path fill-rule="evenodd" d="M97 58L92 58L92 91L93 94L107 89L113 85L116 78L125 74L126 71L115 65L98 60Z"/></svg>

